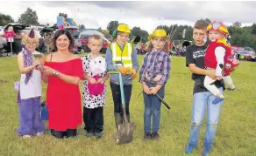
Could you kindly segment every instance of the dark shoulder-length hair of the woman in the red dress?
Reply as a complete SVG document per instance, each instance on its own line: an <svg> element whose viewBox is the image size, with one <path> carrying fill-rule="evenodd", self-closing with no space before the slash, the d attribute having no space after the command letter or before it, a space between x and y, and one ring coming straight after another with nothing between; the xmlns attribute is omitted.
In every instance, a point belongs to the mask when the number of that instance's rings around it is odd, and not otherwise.
<svg viewBox="0 0 256 156"><path fill-rule="evenodd" d="M51 46L54 49L54 51L58 51L57 46L56 46L56 40L61 35L66 35L68 37L68 40L69 40L68 50L72 51L72 48L74 47L75 41L74 41L74 38L71 36L70 32L67 31L67 30L59 30L59 31L56 31L54 33L54 36L53 36L53 39L52 39L52 42L51 42Z"/></svg>

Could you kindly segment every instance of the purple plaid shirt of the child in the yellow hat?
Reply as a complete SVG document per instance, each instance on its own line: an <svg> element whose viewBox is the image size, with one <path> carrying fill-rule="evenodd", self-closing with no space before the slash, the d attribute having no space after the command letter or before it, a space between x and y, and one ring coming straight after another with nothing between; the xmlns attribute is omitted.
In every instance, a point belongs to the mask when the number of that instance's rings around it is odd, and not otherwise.
<svg viewBox="0 0 256 156"><path fill-rule="evenodd" d="M162 78L156 82L159 85L165 85L170 78L171 59L165 51L151 51L146 53L144 62L139 72L139 82L146 82L146 73L153 81L157 75L161 74Z"/></svg>

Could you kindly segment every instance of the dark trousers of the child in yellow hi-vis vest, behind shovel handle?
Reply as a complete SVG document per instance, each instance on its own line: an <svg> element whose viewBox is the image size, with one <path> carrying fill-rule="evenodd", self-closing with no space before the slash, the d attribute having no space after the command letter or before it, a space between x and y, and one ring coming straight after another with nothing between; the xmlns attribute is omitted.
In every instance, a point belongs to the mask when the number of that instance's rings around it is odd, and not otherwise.
<svg viewBox="0 0 256 156"><path fill-rule="evenodd" d="M112 91L112 98L114 101L114 112L122 113L122 101L121 101L121 92L120 85L112 83L110 81L110 88ZM129 103L132 95L132 85L124 85L124 102L125 102L125 112L127 115L129 112Z"/></svg>

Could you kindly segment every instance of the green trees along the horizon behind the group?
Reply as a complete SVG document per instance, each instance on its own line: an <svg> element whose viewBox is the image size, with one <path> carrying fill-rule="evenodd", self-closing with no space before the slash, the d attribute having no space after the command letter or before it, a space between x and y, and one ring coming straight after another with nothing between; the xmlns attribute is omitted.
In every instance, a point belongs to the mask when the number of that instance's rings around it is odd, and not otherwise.
<svg viewBox="0 0 256 156"><path fill-rule="evenodd" d="M205 19L207 22L210 23L210 19ZM4 15L0 13L0 25L4 26L9 23L13 23L14 20L10 15ZM25 12L21 13L20 17L18 17L19 23L22 24L39 24L37 12L32 10L31 8L27 8ZM112 32L117 28L118 21L110 21L107 26L107 31L103 33L110 37ZM79 25L80 29L84 29L85 26ZM189 40L192 41L193 35L193 27L189 25L179 25L179 24L170 24L170 25L158 25L156 28L164 29L167 31L167 34L171 37L171 40ZM256 49L256 24L252 24L251 26L242 26L241 23L235 22L231 26L228 26L228 31L231 35L231 45L237 46L249 46L252 47L254 50ZM98 31L103 31L102 28L96 29ZM147 37L149 33L145 30L142 30L140 27L135 26L131 30L131 36L139 36L141 37L141 41L145 43L147 41Z"/></svg>

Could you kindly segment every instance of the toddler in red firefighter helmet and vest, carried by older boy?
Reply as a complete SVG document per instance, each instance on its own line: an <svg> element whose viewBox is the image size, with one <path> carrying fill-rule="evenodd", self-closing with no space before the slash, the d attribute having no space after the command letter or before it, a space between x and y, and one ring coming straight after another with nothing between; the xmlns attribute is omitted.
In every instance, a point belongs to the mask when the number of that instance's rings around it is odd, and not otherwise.
<svg viewBox="0 0 256 156"><path fill-rule="evenodd" d="M213 22L207 27L210 44L206 50L204 57L204 65L206 69L216 70L216 79L224 79L224 83L230 91L235 90L235 85L232 82L230 73L234 71L239 64L239 61L231 55L231 45L226 43L225 36L228 34L226 26L222 22ZM216 79L205 76L203 85L216 98L212 101L217 104L224 100L224 95L219 92L215 85L212 85Z"/></svg>

